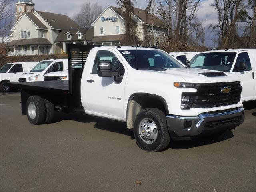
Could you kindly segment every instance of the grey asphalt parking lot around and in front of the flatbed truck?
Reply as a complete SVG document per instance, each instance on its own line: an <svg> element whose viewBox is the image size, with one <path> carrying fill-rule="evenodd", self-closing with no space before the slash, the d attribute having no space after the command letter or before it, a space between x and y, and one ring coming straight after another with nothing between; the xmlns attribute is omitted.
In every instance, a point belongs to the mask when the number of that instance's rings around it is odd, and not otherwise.
<svg viewBox="0 0 256 192"><path fill-rule="evenodd" d="M137 145L126 124L80 113L31 125L20 93L0 93L0 191L256 191L256 108L219 137Z"/></svg>

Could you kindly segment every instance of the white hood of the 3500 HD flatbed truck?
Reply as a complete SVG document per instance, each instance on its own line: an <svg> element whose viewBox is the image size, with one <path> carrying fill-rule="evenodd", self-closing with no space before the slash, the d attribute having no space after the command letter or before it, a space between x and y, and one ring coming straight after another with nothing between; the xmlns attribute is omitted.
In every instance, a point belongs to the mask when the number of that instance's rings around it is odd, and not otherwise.
<svg viewBox="0 0 256 192"><path fill-rule="evenodd" d="M232 82L240 81L240 78L236 74L224 72L226 76L214 76L208 77L200 73L212 73L220 72L216 70L196 69L196 68L166 68L166 71L162 71L164 74L170 74L173 77L182 77L185 82L190 83L214 83L214 82ZM161 72L160 72L161 73Z"/></svg>

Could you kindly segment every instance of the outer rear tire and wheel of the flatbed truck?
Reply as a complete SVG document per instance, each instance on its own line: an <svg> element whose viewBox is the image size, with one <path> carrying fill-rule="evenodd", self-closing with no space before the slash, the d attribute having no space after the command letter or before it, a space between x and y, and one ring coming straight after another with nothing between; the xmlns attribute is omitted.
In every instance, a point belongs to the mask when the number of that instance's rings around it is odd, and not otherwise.
<svg viewBox="0 0 256 192"><path fill-rule="evenodd" d="M26 103L26 112L31 124L38 125L44 123L46 116L44 100L37 95L30 96Z"/></svg>

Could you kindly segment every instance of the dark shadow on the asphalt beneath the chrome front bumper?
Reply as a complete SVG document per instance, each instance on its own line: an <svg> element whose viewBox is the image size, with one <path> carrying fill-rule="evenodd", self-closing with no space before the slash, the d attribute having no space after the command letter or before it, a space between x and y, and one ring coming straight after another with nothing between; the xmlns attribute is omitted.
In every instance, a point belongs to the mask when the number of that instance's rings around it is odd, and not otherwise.
<svg viewBox="0 0 256 192"><path fill-rule="evenodd" d="M206 136L202 138L195 138L190 141L171 141L170 148L171 149L188 149L193 147L199 147L203 145L209 145L212 143L221 142L227 139L234 137L233 132L231 130L227 130L222 134Z"/></svg>

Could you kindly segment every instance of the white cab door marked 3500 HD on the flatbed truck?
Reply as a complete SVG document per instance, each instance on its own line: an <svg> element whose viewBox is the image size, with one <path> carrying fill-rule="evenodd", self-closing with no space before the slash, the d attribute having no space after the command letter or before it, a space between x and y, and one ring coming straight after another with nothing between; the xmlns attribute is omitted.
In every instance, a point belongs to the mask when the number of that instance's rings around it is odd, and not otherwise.
<svg viewBox="0 0 256 192"><path fill-rule="evenodd" d="M119 71L123 77L122 82L117 83L114 77L99 77L98 62L100 60L110 60L112 71ZM89 69L89 68L88 68ZM124 88L126 83L127 70L122 64L121 58L113 50L98 50L94 64L90 72L87 73L85 82L85 111L88 114L105 114L105 116L115 116L124 118ZM104 116L104 115L103 115Z"/></svg>

